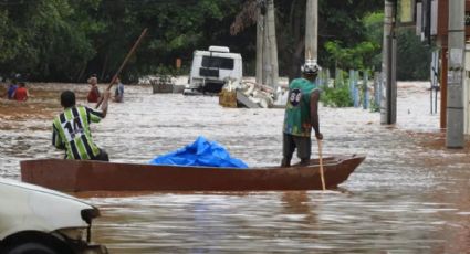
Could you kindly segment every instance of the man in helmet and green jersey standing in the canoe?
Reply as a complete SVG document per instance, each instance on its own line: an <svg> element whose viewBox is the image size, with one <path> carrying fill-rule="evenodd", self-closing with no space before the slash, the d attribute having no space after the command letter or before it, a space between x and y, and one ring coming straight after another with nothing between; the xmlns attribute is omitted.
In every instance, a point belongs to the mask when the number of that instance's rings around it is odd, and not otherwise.
<svg viewBox="0 0 470 254"><path fill-rule="evenodd" d="M320 88L315 84L320 66L314 60L306 60L302 66L301 78L289 84L289 97L285 105L282 141L282 167L290 167L292 155L297 149L301 165L309 165L312 154L312 128L315 137L323 139L318 127Z"/></svg>

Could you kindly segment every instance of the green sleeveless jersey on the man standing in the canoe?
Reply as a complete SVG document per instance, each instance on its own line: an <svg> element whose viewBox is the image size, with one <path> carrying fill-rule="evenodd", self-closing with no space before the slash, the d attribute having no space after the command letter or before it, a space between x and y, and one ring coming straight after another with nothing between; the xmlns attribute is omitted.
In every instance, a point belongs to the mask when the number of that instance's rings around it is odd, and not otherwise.
<svg viewBox="0 0 470 254"><path fill-rule="evenodd" d="M285 134L310 137L312 124L310 120L310 96L317 86L305 78L295 78L289 84L289 97L285 105Z"/></svg>

